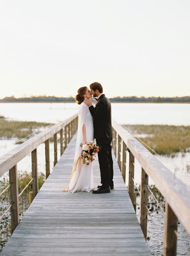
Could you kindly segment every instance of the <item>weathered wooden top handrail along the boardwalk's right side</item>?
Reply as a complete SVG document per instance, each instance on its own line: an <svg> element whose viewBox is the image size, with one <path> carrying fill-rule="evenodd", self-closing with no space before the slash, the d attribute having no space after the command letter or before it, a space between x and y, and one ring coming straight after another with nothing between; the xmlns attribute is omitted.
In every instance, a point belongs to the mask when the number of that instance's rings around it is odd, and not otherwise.
<svg viewBox="0 0 190 256"><path fill-rule="evenodd" d="M190 189L114 120L112 120L112 128L119 134L132 155L153 180L174 214L190 234L190 197L187 196L190 194Z"/></svg>

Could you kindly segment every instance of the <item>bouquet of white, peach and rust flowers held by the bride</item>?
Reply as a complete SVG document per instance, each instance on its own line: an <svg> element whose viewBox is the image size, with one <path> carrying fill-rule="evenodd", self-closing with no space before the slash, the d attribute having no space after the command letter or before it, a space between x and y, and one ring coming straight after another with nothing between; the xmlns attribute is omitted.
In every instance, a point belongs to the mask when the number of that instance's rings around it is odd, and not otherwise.
<svg viewBox="0 0 190 256"><path fill-rule="evenodd" d="M85 143L83 145L81 143L80 146L82 147L82 163L89 165L90 162L94 161L96 157L95 155L100 150L100 147L93 141L89 141L89 143Z"/></svg>

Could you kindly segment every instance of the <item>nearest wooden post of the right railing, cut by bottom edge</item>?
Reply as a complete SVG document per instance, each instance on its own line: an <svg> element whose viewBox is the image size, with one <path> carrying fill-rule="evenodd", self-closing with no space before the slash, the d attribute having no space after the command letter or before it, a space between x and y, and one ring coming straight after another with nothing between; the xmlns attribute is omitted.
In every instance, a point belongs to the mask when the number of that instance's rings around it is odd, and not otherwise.
<svg viewBox="0 0 190 256"><path fill-rule="evenodd" d="M166 202L164 256L175 256L177 246L177 217Z"/></svg>

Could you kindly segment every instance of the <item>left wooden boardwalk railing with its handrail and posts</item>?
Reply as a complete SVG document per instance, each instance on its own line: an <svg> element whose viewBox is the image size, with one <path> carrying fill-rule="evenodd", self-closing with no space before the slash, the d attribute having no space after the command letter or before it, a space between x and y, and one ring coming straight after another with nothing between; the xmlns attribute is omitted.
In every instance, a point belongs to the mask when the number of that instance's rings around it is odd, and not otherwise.
<svg viewBox="0 0 190 256"><path fill-rule="evenodd" d="M59 124L49 127L47 130L42 131L34 138L28 139L26 142L17 146L13 150L0 157L0 177L9 170L9 186L10 189L10 206L6 210L11 211L11 232L13 232L19 223L19 196L18 194L18 175L17 175L17 163L31 153L31 165L32 165L32 179L28 185L32 182L33 199L38 193L38 169L37 169L37 147L45 143L45 159L46 159L46 179L50 174L50 151L49 151L49 139L54 137L54 165L57 163L57 133L60 132L60 155L64 152L67 144L73 137L78 125L78 114L66 119ZM28 186L27 185L27 186ZM26 187L27 187L26 186ZM26 188L25 187L25 188ZM3 191L5 192L6 189ZM3 193L2 192L2 193ZM1 194L2 194L1 193ZM5 212L5 213L6 213ZM5 214L4 213L4 214ZM3 214L3 215L4 215Z"/></svg>

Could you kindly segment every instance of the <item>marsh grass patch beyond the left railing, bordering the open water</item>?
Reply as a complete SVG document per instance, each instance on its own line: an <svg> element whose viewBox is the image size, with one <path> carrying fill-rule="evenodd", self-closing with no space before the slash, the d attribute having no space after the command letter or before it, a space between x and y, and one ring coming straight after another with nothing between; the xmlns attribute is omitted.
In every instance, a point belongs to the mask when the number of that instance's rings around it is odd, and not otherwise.
<svg viewBox="0 0 190 256"><path fill-rule="evenodd" d="M40 122L22 122L12 120L0 120L0 138L18 138L22 139L35 132L39 128L44 128L49 123ZM22 141L23 142L23 141ZM21 143L22 143L21 142Z"/></svg>

